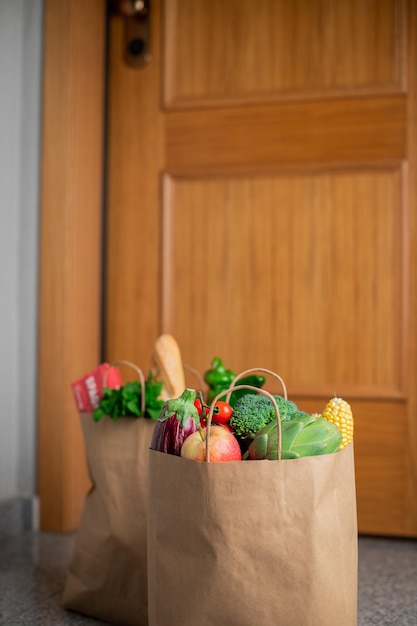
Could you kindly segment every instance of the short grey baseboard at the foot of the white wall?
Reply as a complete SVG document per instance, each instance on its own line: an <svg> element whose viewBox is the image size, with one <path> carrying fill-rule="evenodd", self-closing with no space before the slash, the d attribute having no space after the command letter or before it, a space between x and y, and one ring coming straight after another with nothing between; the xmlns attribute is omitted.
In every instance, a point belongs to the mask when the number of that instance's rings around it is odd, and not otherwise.
<svg viewBox="0 0 417 626"><path fill-rule="evenodd" d="M38 529L37 496L22 496L0 501L0 537Z"/></svg>

